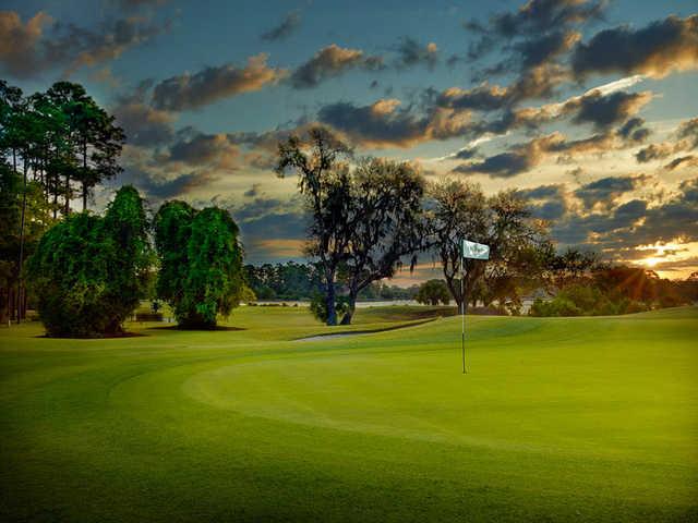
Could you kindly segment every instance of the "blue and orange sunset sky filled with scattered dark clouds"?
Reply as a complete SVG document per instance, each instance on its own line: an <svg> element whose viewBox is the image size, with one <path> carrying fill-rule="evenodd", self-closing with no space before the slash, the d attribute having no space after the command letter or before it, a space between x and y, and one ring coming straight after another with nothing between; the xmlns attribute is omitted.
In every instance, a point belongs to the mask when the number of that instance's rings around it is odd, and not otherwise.
<svg viewBox="0 0 698 523"><path fill-rule="evenodd" d="M230 210L246 260L302 260L279 139L323 124L429 181L515 188L559 248L665 278L698 270L691 1L8 1L0 77L82 83L127 134L123 173ZM437 277L423 258L408 284Z"/></svg>

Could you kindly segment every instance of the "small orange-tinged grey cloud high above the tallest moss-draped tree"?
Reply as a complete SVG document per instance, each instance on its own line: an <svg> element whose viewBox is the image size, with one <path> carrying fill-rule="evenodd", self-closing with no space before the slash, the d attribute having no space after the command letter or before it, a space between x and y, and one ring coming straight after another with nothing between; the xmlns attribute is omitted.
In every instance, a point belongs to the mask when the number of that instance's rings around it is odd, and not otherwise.
<svg viewBox="0 0 698 523"><path fill-rule="evenodd" d="M359 49L348 49L332 44L322 48L309 61L296 69L289 80L294 88L304 89L315 87L349 69L360 68L375 71L383 66L381 57L368 57Z"/></svg>

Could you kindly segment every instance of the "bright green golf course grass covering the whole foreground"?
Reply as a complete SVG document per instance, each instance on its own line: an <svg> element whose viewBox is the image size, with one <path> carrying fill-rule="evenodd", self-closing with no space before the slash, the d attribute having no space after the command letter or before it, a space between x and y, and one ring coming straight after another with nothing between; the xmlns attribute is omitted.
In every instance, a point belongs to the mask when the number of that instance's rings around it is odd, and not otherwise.
<svg viewBox="0 0 698 523"><path fill-rule="evenodd" d="M1 329L0 520L698 521L696 308L229 325Z"/></svg>

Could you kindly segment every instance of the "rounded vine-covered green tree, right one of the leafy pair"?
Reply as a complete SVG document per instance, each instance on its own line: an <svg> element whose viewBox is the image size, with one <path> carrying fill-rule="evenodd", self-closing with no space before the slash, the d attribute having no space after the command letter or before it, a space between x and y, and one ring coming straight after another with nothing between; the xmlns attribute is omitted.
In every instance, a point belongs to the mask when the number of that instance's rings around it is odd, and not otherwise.
<svg viewBox="0 0 698 523"><path fill-rule="evenodd" d="M230 215L217 207L197 211L173 200L158 210L157 293L172 306L181 328L215 328L217 316L238 305L244 280L238 236Z"/></svg>

